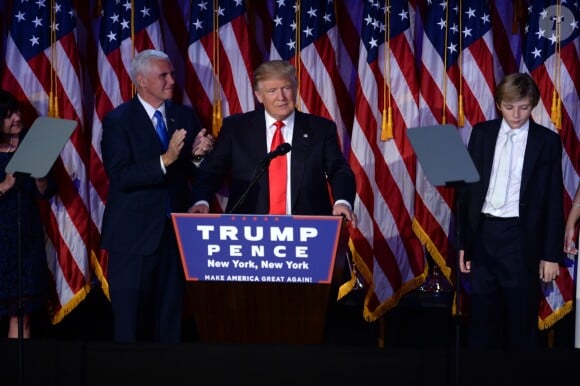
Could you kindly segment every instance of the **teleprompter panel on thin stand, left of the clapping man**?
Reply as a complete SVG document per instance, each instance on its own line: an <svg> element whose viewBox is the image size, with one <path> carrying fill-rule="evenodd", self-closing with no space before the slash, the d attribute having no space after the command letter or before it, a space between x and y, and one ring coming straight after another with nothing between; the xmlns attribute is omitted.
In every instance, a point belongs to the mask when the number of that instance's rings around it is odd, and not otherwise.
<svg viewBox="0 0 580 386"><path fill-rule="evenodd" d="M34 121L26 135L22 139L18 149L6 165L6 173L13 174L16 181L14 184L18 194L17 207L17 249L18 249L18 374L20 384L23 384L23 288L22 288L22 215L21 201L22 181L27 177L45 177L60 151L68 141L77 125L76 121L40 117Z"/></svg>

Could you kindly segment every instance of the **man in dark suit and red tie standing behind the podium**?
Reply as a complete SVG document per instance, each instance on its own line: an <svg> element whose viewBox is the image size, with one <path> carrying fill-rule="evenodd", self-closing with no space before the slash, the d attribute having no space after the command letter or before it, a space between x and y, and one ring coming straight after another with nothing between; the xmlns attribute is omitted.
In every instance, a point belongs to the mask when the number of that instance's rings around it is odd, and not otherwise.
<svg viewBox="0 0 580 386"><path fill-rule="evenodd" d="M256 69L253 89L262 106L223 120L201 166L209 184L194 184L198 201L190 212L208 213L229 173L227 213L342 215L355 225L355 178L336 125L296 109L297 85L296 68L287 61ZM264 173L255 179L260 168Z"/></svg>

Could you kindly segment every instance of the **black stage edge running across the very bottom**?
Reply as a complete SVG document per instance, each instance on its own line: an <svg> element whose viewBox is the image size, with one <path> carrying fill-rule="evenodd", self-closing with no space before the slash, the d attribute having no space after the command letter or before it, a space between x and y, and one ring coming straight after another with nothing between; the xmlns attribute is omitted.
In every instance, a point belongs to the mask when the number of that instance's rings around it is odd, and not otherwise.
<svg viewBox="0 0 580 386"><path fill-rule="evenodd" d="M577 379L580 350L380 349L324 345L0 343L3 386L554 385ZM573 384L573 383L572 383Z"/></svg>

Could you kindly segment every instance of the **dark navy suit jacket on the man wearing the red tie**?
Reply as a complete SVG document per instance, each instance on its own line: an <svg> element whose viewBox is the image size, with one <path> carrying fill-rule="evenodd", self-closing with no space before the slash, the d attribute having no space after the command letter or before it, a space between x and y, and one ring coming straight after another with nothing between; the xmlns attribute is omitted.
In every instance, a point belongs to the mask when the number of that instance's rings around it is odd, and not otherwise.
<svg viewBox="0 0 580 386"><path fill-rule="evenodd" d="M229 213L268 153L266 142L263 108L225 118L215 148L202 166L212 183L195 184L195 198L210 201L224 177L229 176L226 207ZM354 174L340 151L334 122L296 111L290 178L292 214L331 215L332 205L338 199L353 204L356 192ZM205 189L199 189L203 186ZM235 212L266 214L268 208L266 170Z"/></svg>

